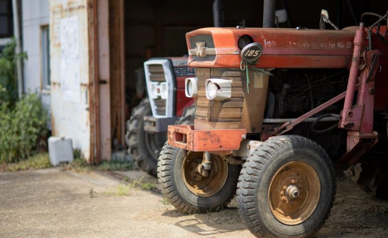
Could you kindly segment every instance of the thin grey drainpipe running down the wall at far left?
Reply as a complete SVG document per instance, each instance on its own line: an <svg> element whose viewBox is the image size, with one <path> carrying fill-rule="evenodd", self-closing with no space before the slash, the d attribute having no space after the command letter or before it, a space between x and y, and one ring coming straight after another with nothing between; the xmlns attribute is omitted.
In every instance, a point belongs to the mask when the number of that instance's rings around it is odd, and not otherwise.
<svg viewBox="0 0 388 238"><path fill-rule="evenodd" d="M19 29L19 14L17 8L17 0L12 0L12 12L13 12L13 34L16 40L15 54L18 56L21 53L20 46L20 29ZM23 79L21 73L21 59L20 57L16 60L16 77L17 77L17 93L19 98L23 94Z"/></svg>

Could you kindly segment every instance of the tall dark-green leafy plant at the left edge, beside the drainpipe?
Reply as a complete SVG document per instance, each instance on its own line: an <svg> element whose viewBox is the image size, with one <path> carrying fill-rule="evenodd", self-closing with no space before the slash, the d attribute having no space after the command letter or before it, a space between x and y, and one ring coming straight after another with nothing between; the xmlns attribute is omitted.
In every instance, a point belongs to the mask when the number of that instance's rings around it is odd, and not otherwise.
<svg viewBox="0 0 388 238"><path fill-rule="evenodd" d="M15 54L14 38L0 52L0 105L14 106L17 100L15 66L18 59L27 59L26 53Z"/></svg>

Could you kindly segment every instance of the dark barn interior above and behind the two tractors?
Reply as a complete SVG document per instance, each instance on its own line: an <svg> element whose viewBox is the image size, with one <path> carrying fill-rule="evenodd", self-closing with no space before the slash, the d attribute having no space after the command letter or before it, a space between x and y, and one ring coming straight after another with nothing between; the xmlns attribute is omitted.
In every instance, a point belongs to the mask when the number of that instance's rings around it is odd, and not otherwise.
<svg viewBox="0 0 388 238"><path fill-rule="evenodd" d="M262 27L263 0L220 0L220 22L225 27ZM195 2L196 3L196 2ZM127 117L136 94L135 70L152 57L180 57L187 54L185 34L189 31L212 27L213 1L194 2L181 0L124 1L124 48ZM357 25L363 12L380 14L388 8L388 1L376 4L369 0L278 0L276 9L286 9L288 21L282 28L306 27L319 29L320 10L326 9L330 19L341 29ZM366 18L367 21L374 19ZM327 26L330 29L330 26ZM128 118L127 118L128 119Z"/></svg>

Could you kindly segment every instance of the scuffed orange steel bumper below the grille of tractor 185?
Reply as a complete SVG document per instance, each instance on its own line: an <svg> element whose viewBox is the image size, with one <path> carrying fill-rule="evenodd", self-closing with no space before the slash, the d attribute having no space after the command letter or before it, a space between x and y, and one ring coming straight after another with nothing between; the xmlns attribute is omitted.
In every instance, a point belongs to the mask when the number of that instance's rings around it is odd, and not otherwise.
<svg viewBox="0 0 388 238"><path fill-rule="evenodd" d="M246 129L194 130L194 125L169 125L169 145L190 151L232 151L240 148Z"/></svg>

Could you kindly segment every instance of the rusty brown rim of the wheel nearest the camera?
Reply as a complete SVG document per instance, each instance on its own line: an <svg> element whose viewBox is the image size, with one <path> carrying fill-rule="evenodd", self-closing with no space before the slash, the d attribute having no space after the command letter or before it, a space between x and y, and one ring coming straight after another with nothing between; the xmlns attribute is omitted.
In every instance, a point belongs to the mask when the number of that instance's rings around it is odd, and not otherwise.
<svg viewBox="0 0 388 238"><path fill-rule="evenodd" d="M271 180L268 190L271 212L283 224L300 224L315 211L320 191L320 180L314 168L306 162L290 162Z"/></svg>

